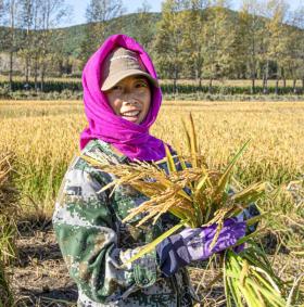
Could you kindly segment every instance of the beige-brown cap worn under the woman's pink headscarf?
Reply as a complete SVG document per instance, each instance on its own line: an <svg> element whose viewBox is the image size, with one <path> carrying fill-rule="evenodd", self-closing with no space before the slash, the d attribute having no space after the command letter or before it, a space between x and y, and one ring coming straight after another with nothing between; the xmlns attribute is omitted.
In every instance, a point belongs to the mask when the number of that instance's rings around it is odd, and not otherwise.
<svg viewBox="0 0 304 307"><path fill-rule="evenodd" d="M151 84L159 87L159 82L145 71L139 55L131 50L117 48L111 52L102 67L102 91L107 91L126 77L139 75L147 77Z"/></svg>

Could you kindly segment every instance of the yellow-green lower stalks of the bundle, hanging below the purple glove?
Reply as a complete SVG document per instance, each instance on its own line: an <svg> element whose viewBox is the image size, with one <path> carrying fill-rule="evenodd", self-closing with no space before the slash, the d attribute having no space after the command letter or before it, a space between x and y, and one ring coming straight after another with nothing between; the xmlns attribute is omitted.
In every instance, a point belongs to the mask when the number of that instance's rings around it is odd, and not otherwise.
<svg viewBox="0 0 304 307"><path fill-rule="evenodd" d="M241 254L228 250L224 260L227 306L286 306L282 281L271 270L267 258L253 244Z"/></svg>

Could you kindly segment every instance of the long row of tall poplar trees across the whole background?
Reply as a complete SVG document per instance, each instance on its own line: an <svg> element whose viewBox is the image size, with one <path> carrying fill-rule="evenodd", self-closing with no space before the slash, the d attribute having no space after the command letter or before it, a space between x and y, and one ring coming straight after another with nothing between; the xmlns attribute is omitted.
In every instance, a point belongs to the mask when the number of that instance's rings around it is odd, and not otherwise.
<svg viewBox="0 0 304 307"><path fill-rule="evenodd" d="M153 57L162 78L213 81L223 78L256 79L267 89L269 78L304 88L304 5L290 10L284 0L243 0L238 12L225 0L165 0L162 14L142 2L136 17L122 0L90 0L79 52L72 56L58 39L60 22L71 17L62 0L0 0L0 18L10 28L2 38L10 54L23 61L24 76L43 85L45 76L62 73L71 61L81 69L88 56L111 34L125 33L141 42ZM130 22L131 21L131 22ZM20 35L22 33L22 35ZM69 72L71 73L71 72Z"/></svg>

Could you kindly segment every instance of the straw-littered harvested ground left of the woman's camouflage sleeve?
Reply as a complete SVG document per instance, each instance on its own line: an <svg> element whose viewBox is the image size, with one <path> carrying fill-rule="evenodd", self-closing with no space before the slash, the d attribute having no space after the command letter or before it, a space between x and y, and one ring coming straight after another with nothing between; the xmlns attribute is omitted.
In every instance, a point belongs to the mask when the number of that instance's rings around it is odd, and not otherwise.
<svg viewBox="0 0 304 307"><path fill-rule="evenodd" d="M76 306L77 287L68 276L52 226L20 229L18 257L10 269L15 306Z"/></svg>

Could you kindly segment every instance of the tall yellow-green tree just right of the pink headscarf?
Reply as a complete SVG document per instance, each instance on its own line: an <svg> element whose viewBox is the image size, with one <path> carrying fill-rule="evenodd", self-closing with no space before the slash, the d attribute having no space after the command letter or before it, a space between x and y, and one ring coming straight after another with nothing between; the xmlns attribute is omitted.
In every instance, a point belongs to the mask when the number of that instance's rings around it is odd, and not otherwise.
<svg viewBox="0 0 304 307"><path fill-rule="evenodd" d="M177 92L177 80L183 66L182 37L186 23L183 1L166 0L162 7L162 20L157 23L157 35L154 41L156 64L163 76L173 79L174 92Z"/></svg>

